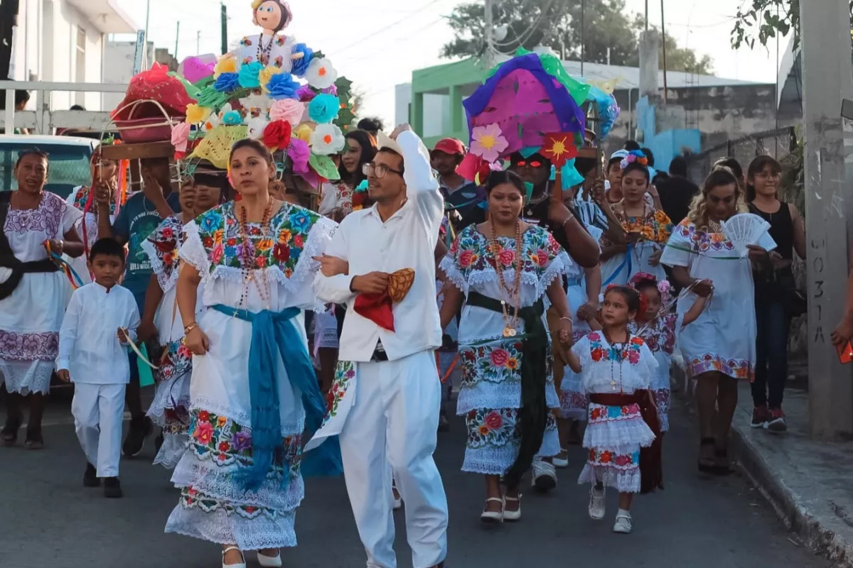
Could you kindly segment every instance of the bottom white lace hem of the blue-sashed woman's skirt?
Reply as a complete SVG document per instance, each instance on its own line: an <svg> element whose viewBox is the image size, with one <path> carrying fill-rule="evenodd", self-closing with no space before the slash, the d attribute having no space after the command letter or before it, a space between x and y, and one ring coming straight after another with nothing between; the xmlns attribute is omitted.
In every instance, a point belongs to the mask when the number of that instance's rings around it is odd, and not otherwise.
<svg viewBox="0 0 853 568"><path fill-rule="evenodd" d="M221 509L205 513L198 508L184 508L178 503L166 521L165 532L217 544L236 544L241 550L293 548L296 546L295 522L294 512L277 513L275 519L263 515L244 519Z"/></svg>

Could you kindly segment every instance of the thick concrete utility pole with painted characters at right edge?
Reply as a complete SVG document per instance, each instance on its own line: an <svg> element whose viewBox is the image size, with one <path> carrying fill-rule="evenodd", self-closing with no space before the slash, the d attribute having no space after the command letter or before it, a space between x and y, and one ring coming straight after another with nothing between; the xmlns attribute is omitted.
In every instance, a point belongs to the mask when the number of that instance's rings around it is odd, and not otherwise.
<svg viewBox="0 0 853 568"><path fill-rule="evenodd" d="M808 7L806 7L808 4ZM849 267L847 221L853 171L844 164L841 101L853 97L848 0L800 3L807 290L809 432L815 439L853 434L853 381L829 339L844 306Z"/></svg>

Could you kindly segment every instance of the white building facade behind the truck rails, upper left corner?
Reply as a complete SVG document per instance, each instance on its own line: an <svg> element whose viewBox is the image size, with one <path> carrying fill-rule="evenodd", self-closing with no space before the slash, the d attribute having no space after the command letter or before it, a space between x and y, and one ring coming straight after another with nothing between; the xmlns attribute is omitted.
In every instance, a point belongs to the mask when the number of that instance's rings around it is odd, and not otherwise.
<svg viewBox="0 0 853 568"><path fill-rule="evenodd" d="M136 33L116 0L20 0L9 76L19 81L112 83L107 34ZM34 106L34 97L28 107ZM54 91L50 108L102 110L101 93Z"/></svg>

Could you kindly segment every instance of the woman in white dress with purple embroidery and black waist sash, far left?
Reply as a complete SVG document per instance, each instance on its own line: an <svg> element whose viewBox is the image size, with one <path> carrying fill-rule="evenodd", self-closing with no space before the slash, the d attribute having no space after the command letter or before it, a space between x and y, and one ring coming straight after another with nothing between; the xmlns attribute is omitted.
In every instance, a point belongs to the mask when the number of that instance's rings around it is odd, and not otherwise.
<svg viewBox="0 0 853 568"><path fill-rule="evenodd" d="M18 190L0 192L0 384L6 388L4 445L14 445L23 422L23 397L30 399L26 446L44 445L44 394L50 387L59 349L59 329L71 284L50 261L45 243L57 254L83 254L74 224L82 215L55 193L44 191L48 156L20 152L15 164Z"/></svg>

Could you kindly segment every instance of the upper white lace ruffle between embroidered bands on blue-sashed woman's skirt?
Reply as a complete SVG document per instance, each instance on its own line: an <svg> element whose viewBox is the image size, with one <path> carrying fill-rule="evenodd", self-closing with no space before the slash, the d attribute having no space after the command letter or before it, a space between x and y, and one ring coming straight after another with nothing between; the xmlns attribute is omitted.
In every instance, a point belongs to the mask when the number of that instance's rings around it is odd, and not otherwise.
<svg viewBox="0 0 853 568"><path fill-rule="evenodd" d="M305 484L301 475L292 477L287 487L282 488L281 474L270 473L258 491L247 491L236 481L236 473L241 468L244 467L236 464L220 467L213 462L202 462L189 449L184 452L175 472L171 474L171 482L179 488L192 487L218 501L271 508L278 512L295 510L305 497ZM289 472L287 468L284 470L286 475Z"/></svg>

